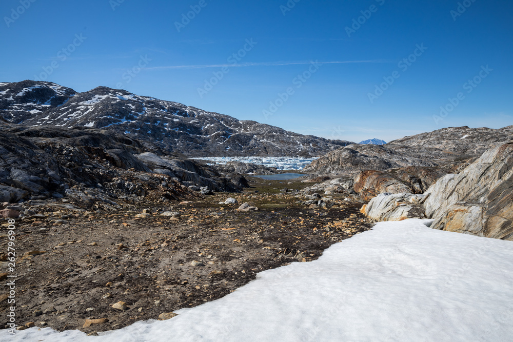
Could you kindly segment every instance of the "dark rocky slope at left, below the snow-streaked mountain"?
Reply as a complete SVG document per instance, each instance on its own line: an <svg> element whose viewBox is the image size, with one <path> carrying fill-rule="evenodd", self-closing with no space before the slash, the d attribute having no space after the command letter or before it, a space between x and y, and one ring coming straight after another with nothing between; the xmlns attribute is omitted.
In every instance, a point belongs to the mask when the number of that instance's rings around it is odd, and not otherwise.
<svg viewBox="0 0 513 342"><path fill-rule="evenodd" d="M245 186L241 176L222 176L116 132L0 124L0 202L65 198L119 208Z"/></svg>

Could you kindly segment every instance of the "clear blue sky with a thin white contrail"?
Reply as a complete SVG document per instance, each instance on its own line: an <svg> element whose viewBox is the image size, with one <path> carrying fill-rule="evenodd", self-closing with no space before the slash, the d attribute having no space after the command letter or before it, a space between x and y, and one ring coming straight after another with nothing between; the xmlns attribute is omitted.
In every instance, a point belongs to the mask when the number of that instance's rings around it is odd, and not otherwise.
<svg viewBox="0 0 513 342"><path fill-rule="evenodd" d="M0 82L122 88L357 142L513 124L510 0L32 1L0 4Z"/></svg>

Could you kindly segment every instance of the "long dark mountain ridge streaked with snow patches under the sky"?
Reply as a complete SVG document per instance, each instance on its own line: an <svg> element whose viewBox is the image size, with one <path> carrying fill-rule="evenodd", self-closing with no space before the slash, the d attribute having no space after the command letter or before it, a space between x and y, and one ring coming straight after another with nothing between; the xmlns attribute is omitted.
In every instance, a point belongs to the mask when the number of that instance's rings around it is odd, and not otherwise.
<svg viewBox="0 0 513 342"><path fill-rule="evenodd" d="M50 82L0 84L0 115L16 124L111 130L189 157L319 156L350 144L125 90L76 93Z"/></svg>

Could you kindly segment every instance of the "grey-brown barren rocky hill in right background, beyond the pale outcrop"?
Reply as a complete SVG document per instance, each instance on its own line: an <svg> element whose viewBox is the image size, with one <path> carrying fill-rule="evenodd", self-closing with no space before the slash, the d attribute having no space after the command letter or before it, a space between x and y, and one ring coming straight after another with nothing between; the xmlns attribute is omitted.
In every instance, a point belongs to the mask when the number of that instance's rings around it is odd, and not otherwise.
<svg viewBox="0 0 513 342"><path fill-rule="evenodd" d="M513 126L443 128L393 140L383 146L347 145L314 160L305 171L337 174L409 166L435 167L479 157L486 149L512 137Z"/></svg>

